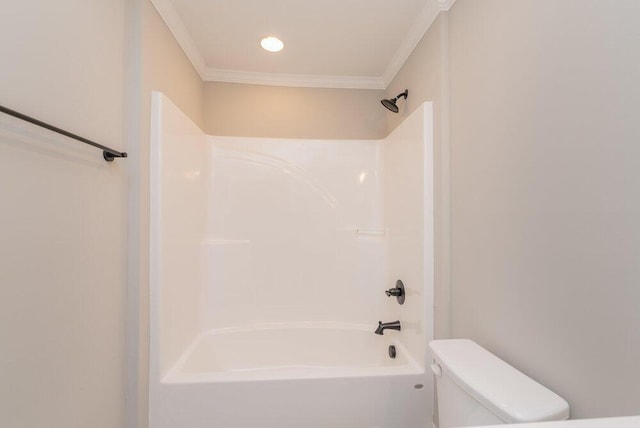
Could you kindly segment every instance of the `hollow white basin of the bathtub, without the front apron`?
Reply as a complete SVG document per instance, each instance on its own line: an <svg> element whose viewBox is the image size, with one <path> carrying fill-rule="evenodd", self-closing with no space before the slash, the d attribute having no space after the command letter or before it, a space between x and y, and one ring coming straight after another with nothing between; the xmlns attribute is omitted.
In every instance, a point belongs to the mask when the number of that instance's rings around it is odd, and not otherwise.
<svg viewBox="0 0 640 428"><path fill-rule="evenodd" d="M375 326L374 326L375 327ZM201 334L163 381L308 379L419 374L402 344L373 327L286 323ZM396 347L396 358L389 357Z"/></svg>

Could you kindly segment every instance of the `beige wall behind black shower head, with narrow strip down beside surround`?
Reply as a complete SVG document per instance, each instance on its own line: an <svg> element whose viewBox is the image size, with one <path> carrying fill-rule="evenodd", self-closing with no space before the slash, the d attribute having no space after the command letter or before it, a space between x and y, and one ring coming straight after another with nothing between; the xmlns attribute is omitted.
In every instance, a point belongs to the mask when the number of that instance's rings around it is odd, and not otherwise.
<svg viewBox="0 0 640 428"><path fill-rule="evenodd" d="M434 335L446 338L450 331L449 288L449 140L448 140L448 16L440 14L385 92L392 98L409 89L400 99L398 114L386 111L387 132L395 129L425 101L434 107Z"/></svg>

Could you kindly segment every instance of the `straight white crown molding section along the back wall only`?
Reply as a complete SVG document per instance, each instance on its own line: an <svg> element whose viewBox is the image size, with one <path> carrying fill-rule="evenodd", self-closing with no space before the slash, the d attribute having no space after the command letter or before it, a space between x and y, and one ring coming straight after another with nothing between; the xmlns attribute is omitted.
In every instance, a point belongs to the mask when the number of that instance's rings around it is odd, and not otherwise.
<svg viewBox="0 0 640 428"><path fill-rule="evenodd" d="M385 89L381 77L324 76L312 74L260 73L207 68L206 82L246 83L251 85L294 86L306 88Z"/></svg>

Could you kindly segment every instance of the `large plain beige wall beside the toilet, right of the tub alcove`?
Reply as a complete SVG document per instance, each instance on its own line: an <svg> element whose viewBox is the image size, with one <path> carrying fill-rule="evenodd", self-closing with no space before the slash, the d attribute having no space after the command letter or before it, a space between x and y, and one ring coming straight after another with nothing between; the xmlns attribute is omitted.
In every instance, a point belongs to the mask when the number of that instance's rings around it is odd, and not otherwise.
<svg viewBox="0 0 640 428"><path fill-rule="evenodd" d="M640 3L450 12L453 334L640 413Z"/></svg>

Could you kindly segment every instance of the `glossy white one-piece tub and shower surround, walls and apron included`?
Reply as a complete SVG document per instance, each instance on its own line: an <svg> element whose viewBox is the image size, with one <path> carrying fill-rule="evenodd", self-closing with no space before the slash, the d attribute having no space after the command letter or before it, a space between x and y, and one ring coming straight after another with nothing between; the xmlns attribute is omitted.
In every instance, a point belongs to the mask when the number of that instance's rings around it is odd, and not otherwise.
<svg viewBox="0 0 640 428"><path fill-rule="evenodd" d="M430 425L430 103L384 140L230 138L156 93L151 151L151 428Z"/></svg>

